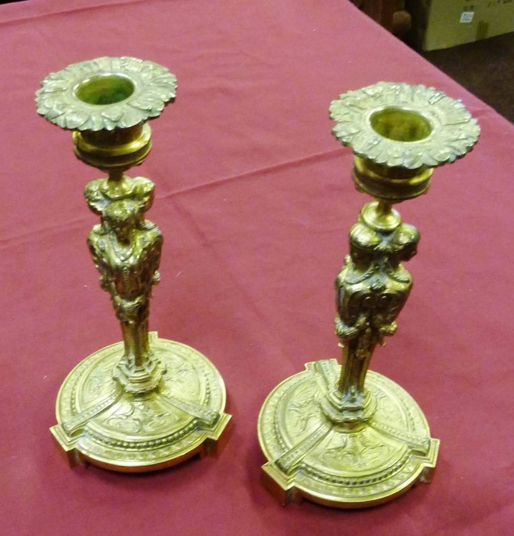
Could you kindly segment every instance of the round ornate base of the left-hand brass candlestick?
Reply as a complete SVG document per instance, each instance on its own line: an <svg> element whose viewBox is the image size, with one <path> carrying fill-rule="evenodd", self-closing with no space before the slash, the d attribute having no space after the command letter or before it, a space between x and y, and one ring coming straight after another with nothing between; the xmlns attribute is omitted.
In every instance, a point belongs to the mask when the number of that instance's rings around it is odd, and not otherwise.
<svg viewBox="0 0 514 536"><path fill-rule="evenodd" d="M150 336L150 348L165 367L157 389L125 391L113 379L123 343L90 355L66 377L50 428L71 465L90 462L121 472L146 472L196 455L216 454L225 444L230 415L225 384L195 349Z"/></svg>

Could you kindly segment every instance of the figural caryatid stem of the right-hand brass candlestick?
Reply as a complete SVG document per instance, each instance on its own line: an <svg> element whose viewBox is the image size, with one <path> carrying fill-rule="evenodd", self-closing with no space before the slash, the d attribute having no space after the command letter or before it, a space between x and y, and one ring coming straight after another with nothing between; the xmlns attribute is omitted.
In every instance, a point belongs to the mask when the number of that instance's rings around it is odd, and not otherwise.
<svg viewBox="0 0 514 536"><path fill-rule="evenodd" d="M399 224L392 231L371 228L359 218L350 231L350 254L336 279L336 334L343 348L338 387L342 411L364 415L364 379L377 344L397 329L396 317L412 288L400 264L416 253L419 233Z"/></svg>

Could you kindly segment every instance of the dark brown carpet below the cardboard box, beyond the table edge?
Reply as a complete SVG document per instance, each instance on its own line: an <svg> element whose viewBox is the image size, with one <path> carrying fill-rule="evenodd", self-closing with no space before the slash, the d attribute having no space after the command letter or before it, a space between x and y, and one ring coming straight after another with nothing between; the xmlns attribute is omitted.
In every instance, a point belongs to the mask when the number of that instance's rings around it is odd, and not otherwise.
<svg viewBox="0 0 514 536"><path fill-rule="evenodd" d="M514 123L514 32L420 54Z"/></svg>

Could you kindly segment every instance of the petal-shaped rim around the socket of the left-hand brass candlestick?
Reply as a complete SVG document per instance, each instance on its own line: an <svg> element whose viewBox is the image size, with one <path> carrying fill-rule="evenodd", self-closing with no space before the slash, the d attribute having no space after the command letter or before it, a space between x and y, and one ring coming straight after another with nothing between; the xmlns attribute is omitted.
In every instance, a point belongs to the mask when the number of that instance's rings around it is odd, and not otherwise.
<svg viewBox="0 0 514 536"><path fill-rule="evenodd" d="M96 76L129 80L133 91L109 104L81 100L77 88ZM177 79L162 65L138 58L102 57L73 63L50 73L36 91L38 113L51 123L70 130L129 128L158 117L176 96Z"/></svg>

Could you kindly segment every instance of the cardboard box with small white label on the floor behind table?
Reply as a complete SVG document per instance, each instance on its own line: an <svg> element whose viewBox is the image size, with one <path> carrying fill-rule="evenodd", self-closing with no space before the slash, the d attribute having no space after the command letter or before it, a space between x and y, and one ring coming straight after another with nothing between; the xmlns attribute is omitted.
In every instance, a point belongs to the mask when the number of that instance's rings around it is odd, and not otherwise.
<svg viewBox="0 0 514 536"><path fill-rule="evenodd" d="M514 31L514 0L407 0L407 41L421 50L453 47Z"/></svg>

